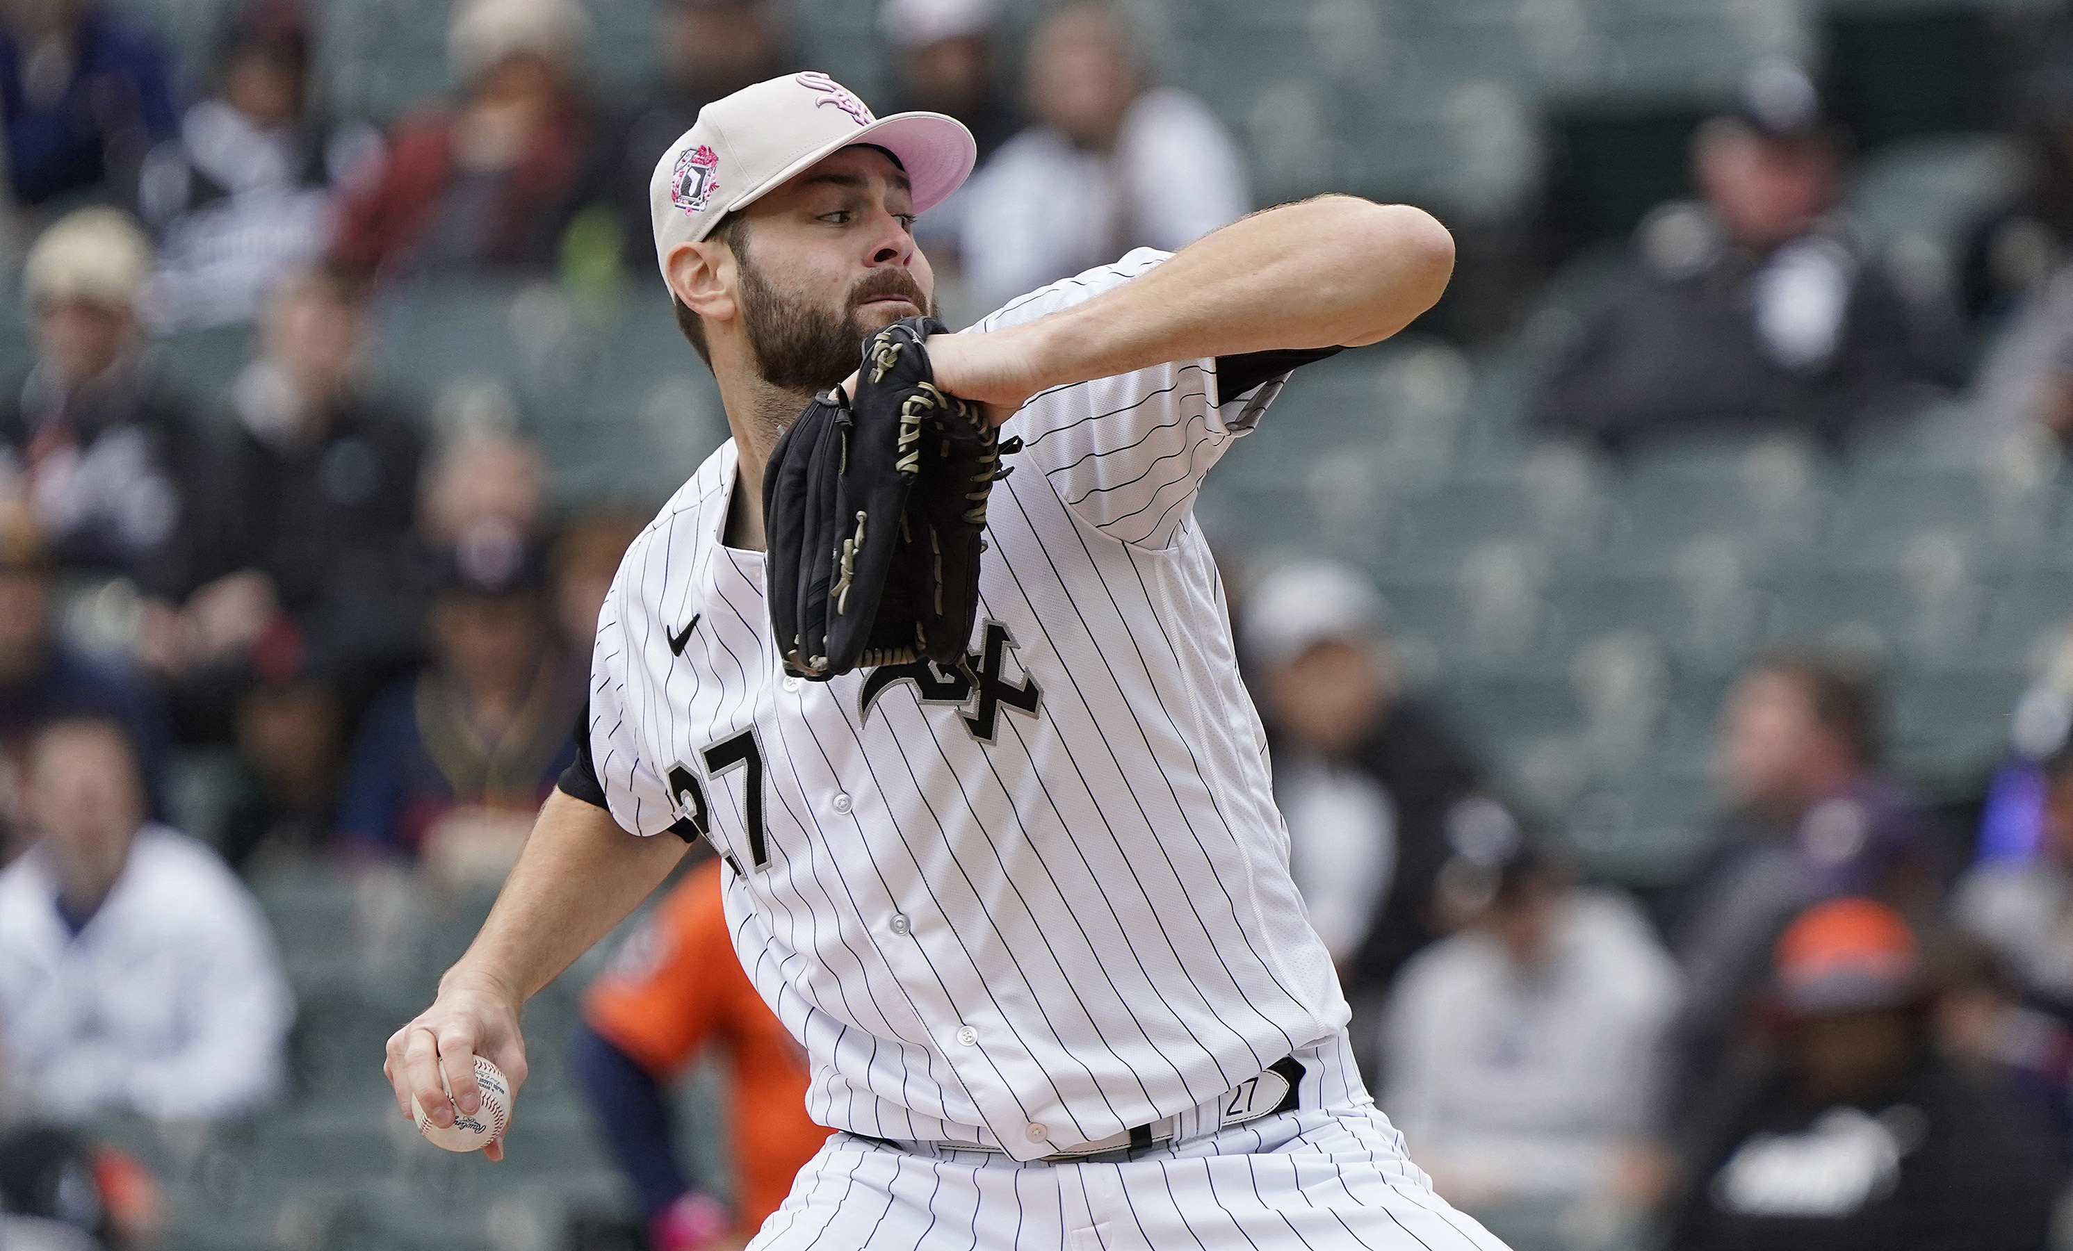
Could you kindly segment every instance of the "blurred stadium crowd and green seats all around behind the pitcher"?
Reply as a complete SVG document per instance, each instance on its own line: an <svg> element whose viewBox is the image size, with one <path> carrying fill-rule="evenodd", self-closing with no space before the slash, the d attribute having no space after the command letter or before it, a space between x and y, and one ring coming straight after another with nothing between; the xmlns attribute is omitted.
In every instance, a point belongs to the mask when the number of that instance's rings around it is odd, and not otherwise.
<svg viewBox="0 0 2073 1251"><path fill-rule="evenodd" d="M2073 14L2029 0L0 0L0 1243L690 1249L817 1133L717 872L381 1042L726 437L697 110L981 170L945 319L1352 191L1447 298L1198 503L1385 1110L1520 1251L2073 1247Z"/></svg>

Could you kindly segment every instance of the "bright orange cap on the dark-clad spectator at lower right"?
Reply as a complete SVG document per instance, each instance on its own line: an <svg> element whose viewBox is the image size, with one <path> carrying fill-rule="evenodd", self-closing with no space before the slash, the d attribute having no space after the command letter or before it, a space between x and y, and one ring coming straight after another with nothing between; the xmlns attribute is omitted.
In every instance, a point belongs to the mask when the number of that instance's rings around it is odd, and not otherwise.
<svg viewBox="0 0 2073 1251"><path fill-rule="evenodd" d="M1884 903L1830 899L1785 928L1772 986L1797 1017L1903 1007L1922 990L1922 955Z"/></svg>

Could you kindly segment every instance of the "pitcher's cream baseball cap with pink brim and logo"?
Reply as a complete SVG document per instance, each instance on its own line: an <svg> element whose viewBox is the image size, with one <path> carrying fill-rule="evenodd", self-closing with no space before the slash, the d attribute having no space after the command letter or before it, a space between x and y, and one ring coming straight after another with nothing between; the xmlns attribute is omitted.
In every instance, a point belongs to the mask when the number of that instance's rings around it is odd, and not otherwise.
<svg viewBox="0 0 2073 1251"><path fill-rule="evenodd" d="M943 203L978 159L978 145L958 118L927 112L877 118L819 70L742 87L699 110L690 130L655 162L649 209L657 269L678 244L699 242L728 213L858 143L893 153L914 184L916 213Z"/></svg>

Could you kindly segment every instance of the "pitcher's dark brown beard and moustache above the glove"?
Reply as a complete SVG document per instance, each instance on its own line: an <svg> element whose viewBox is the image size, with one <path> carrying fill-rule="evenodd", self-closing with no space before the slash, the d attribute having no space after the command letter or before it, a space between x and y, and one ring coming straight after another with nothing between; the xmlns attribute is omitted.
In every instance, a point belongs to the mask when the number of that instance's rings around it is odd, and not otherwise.
<svg viewBox="0 0 2073 1251"><path fill-rule="evenodd" d="M867 275L844 294L840 309L831 309L804 292L775 286L746 249L736 251L736 267L742 329L757 354L757 373L782 391L817 396L856 373L864 340L887 325L864 317L867 300L904 296L935 317L935 300L906 269Z"/></svg>

